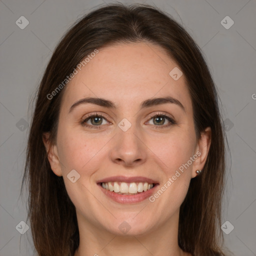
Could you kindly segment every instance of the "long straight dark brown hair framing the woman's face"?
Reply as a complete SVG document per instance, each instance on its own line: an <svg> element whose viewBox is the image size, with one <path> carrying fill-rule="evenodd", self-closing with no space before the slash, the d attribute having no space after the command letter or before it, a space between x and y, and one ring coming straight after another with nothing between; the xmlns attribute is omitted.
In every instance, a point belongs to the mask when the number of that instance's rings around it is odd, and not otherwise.
<svg viewBox="0 0 256 256"><path fill-rule="evenodd" d="M66 32L38 88L22 188L27 182L28 218L40 256L71 256L79 244L75 207L63 178L51 170L42 141L43 132L50 132L50 141L55 143L61 97L68 86L63 80L93 50L116 42L138 41L161 46L181 68L192 99L197 139L207 126L211 128L202 174L191 179L180 207L178 244L196 256L224 255L220 231L224 133L218 95L204 57L190 35L168 14L150 5L118 3L91 11ZM63 88L52 96L61 82Z"/></svg>

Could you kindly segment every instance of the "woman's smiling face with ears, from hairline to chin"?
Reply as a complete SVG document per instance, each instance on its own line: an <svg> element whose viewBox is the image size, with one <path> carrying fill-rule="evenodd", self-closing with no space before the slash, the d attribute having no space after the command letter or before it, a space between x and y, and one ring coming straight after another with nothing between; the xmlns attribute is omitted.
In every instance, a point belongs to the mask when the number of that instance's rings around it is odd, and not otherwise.
<svg viewBox="0 0 256 256"><path fill-rule="evenodd" d="M177 68L159 46L118 44L99 49L66 85L49 160L78 223L134 235L178 216L208 147L196 141Z"/></svg>

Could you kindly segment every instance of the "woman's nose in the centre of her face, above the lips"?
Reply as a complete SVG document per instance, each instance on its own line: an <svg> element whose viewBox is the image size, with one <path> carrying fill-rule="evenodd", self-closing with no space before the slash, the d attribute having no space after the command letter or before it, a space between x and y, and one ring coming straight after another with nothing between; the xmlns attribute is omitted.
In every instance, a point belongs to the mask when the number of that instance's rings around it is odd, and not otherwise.
<svg viewBox="0 0 256 256"><path fill-rule="evenodd" d="M143 136L131 125L126 131L117 127L110 151L111 160L126 167L135 167L146 161L146 145Z"/></svg>

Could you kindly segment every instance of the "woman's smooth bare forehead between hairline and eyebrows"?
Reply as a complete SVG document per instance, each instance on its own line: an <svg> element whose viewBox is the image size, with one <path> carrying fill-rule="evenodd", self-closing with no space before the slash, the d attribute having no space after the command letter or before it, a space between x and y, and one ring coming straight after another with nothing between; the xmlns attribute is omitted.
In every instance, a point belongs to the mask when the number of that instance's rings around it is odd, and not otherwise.
<svg viewBox="0 0 256 256"><path fill-rule="evenodd" d="M70 107L83 97L104 97L116 106L139 105L144 99L177 98L185 109L191 105L185 77L174 80L169 72L177 63L158 45L139 42L98 49L66 87L63 102ZM179 68L180 69L180 68ZM175 70L175 69L174 69Z"/></svg>

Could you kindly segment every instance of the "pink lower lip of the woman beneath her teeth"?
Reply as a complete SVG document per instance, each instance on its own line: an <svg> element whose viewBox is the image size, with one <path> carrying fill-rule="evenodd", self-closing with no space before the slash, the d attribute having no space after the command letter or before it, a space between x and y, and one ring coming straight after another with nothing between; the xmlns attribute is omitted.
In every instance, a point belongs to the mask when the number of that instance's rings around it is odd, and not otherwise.
<svg viewBox="0 0 256 256"><path fill-rule="evenodd" d="M112 200L114 200L116 202L119 202L119 203L137 203L137 202L141 202L141 201L145 200L150 195L152 195L152 193L154 193L158 184L154 185L149 190L146 190L146 191L134 194L134 195L118 194L118 193L106 190L100 184L98 184L98 186L100 187L101 191L105 195L107 195L108 197L110 197Z"/></svg>

